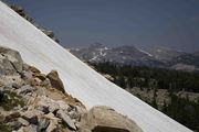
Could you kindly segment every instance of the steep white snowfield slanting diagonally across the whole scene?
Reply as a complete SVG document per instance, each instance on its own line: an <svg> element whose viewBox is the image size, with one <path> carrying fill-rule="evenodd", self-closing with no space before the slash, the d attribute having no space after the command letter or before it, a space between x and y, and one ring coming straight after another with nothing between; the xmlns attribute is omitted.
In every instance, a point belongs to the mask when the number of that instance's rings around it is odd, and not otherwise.
<svg viewBox="0 0 199 132"><path fill-rule="evenodd" d="M50 37L0 2L0 45L18 50L43 73L57 69L65 90L88 109L109 106L133 119L145 132L190 132L167 116L106 80Z"/></svg>

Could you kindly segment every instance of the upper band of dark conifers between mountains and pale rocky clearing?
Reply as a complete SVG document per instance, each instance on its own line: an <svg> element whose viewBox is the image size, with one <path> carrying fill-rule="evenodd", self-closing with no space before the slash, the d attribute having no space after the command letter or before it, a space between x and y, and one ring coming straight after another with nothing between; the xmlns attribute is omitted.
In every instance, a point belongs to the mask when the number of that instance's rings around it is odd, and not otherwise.
<svg viewBox="0 0 199 132"><path fill-rule="evenodd" d="M122 88L159 88L199 92L199 72L188 73L144 66L122 66L112 63L91 65L102 74L111 75L114 82Z"/></svg>

